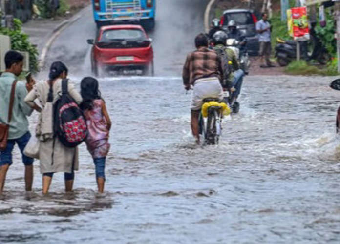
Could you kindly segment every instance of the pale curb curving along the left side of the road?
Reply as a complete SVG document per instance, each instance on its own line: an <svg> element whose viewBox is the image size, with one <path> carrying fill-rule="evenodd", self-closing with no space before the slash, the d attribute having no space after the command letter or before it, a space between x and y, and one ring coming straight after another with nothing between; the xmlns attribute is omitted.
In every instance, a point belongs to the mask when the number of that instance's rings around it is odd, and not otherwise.
<svg viewBox="0 0 340 244"><path fill-rule="evenodd" d="M48 41L46 41L45 45L43 46L42 53L40 54L40 57L39 57L39 66L38 66L39 69L42 69L43 66L45 65L46 56L47 56L47 53L48 53L48 51L49 51L53 41L55 41L59 37L59 35L64 31L64 29L66 29L71 24L73 24L74 22L79 20L83 16L83 12L85 12L88 7L89 6L85 7L84 9L82 9L72 19L64 20L56 28L54 28L54 30L52 31L52 33L53 33L52 36L48 39Z"/></svg>

